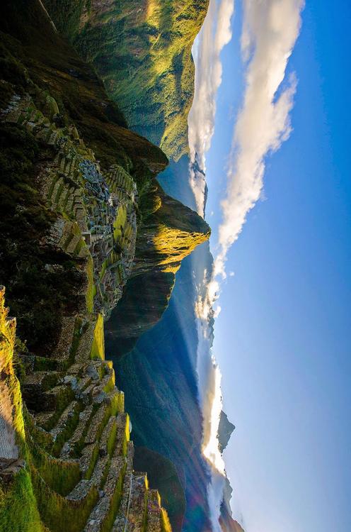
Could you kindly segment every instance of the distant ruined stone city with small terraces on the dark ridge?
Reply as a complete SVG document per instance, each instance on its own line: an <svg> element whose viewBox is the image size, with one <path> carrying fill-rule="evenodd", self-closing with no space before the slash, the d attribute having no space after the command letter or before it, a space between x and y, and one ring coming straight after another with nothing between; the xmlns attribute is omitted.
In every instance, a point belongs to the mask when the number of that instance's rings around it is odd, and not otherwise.
<svg viewBox="0 0 351 532"><path fill-rule="evenodd" d="M59 213L48 238L52 245L88 262L89 308L108 318L134 258L137 186L118 165L104 179L93 151L86 148L76 128L57 126L57 102L48 94L39 98L45 102L47 116L29 95L15 94L1 118L21 124L54 149L54 160L42 165L38 177L43 198Z"/></svg>

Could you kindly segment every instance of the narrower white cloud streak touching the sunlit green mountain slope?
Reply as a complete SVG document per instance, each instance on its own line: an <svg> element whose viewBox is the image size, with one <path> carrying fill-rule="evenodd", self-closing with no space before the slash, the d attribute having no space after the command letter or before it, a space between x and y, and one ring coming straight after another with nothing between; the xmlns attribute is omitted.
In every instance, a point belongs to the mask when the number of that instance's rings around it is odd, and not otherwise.
<svg viewBox="0 0 351 532"><path fill-rule="evenodd" d="M195 94L188 116L190 186L197 212L205 216L205 156L211 145L216 115L216 95L221 84L220 53L231 40L234 0L209 1L207 16L193 49ZM201 170L201 171L199 171Z"/></svg>

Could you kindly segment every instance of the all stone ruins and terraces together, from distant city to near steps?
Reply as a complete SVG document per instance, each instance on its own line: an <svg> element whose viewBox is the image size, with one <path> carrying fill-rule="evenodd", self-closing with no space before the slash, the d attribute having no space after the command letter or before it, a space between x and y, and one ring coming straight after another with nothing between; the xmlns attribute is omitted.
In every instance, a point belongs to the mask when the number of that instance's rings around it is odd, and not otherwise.
<svg viewBox="0 0 351 532"><path fill-rule="evenodd" d="M124 394L115 387L112 362L104 355L103 321L120 299L134 259L137 186L119 165L102 172L76 128L62 125L57 102L45 93L38 98L45 114L29 94L14 94L0 119L21 125L42 149L53 150L36 177L54 213L42 245L76 261L86 282L76 294L79 313L62 317L53 352L21 355L24 402L16 404L16 319L7 317L5 289L0 289L0 478L12 482L19 470L29 469L45 530L170 530L146 473L133 469ZM61 266L45 267L54 273ZM22 416L22 442L16 445L15 417Z"/></svg>

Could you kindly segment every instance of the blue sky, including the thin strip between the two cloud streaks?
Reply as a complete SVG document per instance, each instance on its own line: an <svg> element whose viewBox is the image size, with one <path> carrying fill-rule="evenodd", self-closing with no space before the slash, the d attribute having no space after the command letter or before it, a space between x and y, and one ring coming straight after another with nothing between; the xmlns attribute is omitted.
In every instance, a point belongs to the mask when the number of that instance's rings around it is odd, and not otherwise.
<svg viewBox="0 0 351 532"><path fill-rule="evenodd" d="M288 67L294 131L268 157L265 201L229 251L215 328L246 532L351 529L351 6L309 1L302 21ZM207 154L213 248L243 93L238 2L233 31Z"/></svg>

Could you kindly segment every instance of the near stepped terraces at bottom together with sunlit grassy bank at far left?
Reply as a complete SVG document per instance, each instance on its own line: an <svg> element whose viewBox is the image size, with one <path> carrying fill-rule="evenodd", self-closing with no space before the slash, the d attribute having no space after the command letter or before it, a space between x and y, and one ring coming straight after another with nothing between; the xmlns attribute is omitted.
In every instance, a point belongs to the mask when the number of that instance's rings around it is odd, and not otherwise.
<svg viewBox="0 0 351 532"><path fill-rule="evenodd" d="M4 292L1 287L1 531L170 530L146 473L133 469L124 394L115 387L112 362L104 360L99 318L67 318L49 360L22 357L22 406L13 371L16 320L8 318Z"/></svg>

